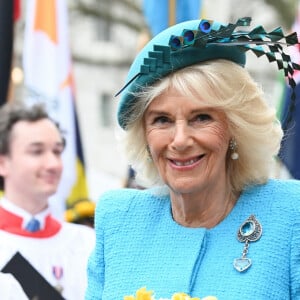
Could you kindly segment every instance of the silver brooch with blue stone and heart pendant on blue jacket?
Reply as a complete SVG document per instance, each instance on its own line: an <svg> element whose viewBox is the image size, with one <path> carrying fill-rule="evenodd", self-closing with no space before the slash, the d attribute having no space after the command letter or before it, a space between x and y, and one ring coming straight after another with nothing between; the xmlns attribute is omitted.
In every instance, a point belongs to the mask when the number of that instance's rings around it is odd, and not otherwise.
<svg viewBox="0 0 300 300"><path fill-rule="evenodd" d="M262 235L262 226L254 215L251 215L239 228L237 239L245 243L242 256L233 261L233 266L238 272L244 272L252 265L251 259L246 257L250 242L256 242Z"/></svg>

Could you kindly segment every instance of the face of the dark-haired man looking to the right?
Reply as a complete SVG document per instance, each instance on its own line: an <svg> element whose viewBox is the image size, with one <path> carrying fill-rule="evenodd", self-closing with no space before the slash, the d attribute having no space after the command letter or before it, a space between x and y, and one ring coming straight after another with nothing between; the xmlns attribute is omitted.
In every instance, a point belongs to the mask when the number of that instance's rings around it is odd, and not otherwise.
<svg viewBox="0 0 300 300"><path fill-rule="evenodd" d="M14 201L47 201L56 192L62 173L63 141L48 119L20 121L13 126L10 151L0 155L5 196Z"/></svg>

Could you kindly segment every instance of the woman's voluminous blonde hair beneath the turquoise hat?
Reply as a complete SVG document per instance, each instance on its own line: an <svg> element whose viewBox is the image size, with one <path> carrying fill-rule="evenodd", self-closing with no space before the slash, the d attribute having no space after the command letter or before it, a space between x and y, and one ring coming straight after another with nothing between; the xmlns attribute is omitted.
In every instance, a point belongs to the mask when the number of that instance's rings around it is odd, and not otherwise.
<svg viewBox="0 0 300 300"><path fill-rule="evenodd" d="M227 155L228 176L234 191L267 181L283 136L275 109L267 104L262 89L247 70L220 59L183 68L135 94L123 141L139 182L144 186L163 184L149 159L143 116L151 101L169 89L187 97L199 95L201 101L225 113L239 154L234 161Z"/></svg>

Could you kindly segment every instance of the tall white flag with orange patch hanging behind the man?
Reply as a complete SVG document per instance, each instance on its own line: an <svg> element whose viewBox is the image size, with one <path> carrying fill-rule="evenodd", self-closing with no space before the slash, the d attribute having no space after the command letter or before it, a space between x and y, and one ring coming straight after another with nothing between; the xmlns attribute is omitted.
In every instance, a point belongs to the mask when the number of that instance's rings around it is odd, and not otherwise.
<svg viewBox="0 0 300 300"><path fill-rule="evenodd" d="M68 11L65 0L27 0L23 52L26 102L44 102L65 133L64 171L54 213L63 217L66 202L87 198L83 153L74 102Z"/></svg>

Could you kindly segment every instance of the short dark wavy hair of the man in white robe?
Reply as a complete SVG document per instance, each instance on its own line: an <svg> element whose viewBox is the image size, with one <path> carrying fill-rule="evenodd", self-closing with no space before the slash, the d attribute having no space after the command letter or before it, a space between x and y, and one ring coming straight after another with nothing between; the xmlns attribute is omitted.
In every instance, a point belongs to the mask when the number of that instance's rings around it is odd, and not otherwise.
<svg viewBox="0 0 300 300"><path fill-rule="evenodd" d="M61 132L58 123L50 118L45 106L41 103L32 106L27 106L20 102L8 102L4 104L0 109L0 154L9 154L11 133L16 123L21 121L36 122L42 119L52 121ZM63 136L62 139L65 145ZM3 187L4 180L0 176L0 189L3 189Z"/></svg>

